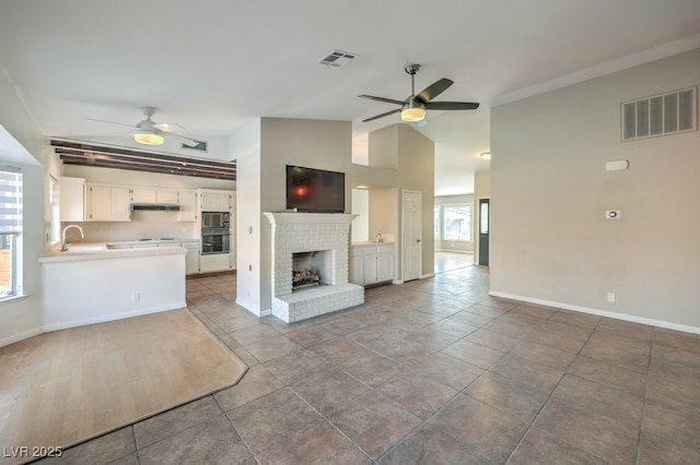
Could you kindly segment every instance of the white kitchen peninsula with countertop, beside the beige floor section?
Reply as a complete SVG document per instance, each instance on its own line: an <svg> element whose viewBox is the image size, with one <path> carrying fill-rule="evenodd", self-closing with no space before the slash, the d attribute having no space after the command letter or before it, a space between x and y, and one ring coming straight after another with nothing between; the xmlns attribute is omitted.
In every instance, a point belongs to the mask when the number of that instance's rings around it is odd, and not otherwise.
<svg viewBox="0 0 700 465"><path fill-rule="evenodd" d="M178 246L82 243L40 258L44 331L185 307L185 254Z"/></svg>

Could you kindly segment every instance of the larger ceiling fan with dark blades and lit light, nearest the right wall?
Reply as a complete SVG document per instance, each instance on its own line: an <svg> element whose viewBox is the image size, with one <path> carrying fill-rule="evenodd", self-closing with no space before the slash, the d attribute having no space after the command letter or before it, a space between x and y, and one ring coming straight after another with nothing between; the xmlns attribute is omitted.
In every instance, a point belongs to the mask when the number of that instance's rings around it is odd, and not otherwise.
<svg viewBox="0 0 700 465"><path fill-rule="evenodd" d="M387 111L381 115L373 116L372 118L363 119L362 122L372 121L385 116L401 112L401 119L407 122L417 122L425 119L427 110L476 110L479 108L479 104L471 102L433 102L433 98L442 94L454 84L453 81L443 78L434 83L430 84L418 95L416 95L416 73L420 69L420 64L409 64L404 68L406 73L411 75L411 95L405 100L395 100L393 98L375 97L373 95L359 95L361 98L369 98L371 100L386 102L388 104L400 105L400 108L396 108L392 111Z"/></svg>

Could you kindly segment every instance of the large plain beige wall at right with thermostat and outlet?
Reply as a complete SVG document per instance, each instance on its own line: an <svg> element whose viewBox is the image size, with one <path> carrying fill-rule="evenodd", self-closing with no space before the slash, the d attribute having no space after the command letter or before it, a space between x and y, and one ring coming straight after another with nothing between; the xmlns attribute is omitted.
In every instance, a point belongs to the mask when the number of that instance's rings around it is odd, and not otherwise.
<svg viewBox="0 0 700 465"><path fill-rule="evenodd" d="M493 294L700 332L700 133L620 142L621 102L699 81L693 50L491 110Z"/></svg>

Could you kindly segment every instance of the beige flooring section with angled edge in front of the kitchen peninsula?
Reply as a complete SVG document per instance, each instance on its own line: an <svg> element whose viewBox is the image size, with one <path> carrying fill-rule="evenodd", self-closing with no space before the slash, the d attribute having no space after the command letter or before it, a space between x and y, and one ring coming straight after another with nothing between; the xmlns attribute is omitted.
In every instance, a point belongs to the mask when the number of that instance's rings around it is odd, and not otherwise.
<svg viewBox="0 0 700 465"><path fill-rule="evenodd" d="M246 370L187 309L2 347L0 463L26 462L35 446L67 448L133 424L231 386ZM13 456L23 455L22 446L28 456Z"/></svg>

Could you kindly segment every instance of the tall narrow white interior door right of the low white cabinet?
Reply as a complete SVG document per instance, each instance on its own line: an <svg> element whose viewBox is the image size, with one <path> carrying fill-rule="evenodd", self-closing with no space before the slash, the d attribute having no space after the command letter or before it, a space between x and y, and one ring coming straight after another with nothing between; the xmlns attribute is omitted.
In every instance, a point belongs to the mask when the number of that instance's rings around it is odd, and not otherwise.
<svg viewBox="0 0 700 465"><path fill-rule="evenodd" d="M402 279L411 281L420 277L421 265L421 216L422 194L419 191L404 191L401 195L402 212Z"/></svg>

